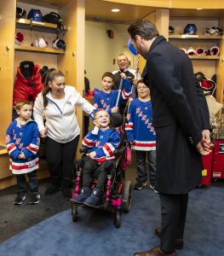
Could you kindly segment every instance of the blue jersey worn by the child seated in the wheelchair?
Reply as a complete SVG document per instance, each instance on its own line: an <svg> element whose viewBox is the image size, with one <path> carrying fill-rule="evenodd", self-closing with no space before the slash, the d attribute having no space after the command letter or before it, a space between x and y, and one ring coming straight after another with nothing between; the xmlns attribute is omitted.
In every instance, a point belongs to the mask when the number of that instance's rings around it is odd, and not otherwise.
<svg viewBox="0 0 224 256"><path fill-rule="evenodd" d="M116 129L99 130L95 134L94 130L89 131L87 136L83 138L83 146L89 148L88 153L96 153L94 160L104 162L106 160L115 159L114 150L118 148L120 136Z"/></svg>

